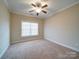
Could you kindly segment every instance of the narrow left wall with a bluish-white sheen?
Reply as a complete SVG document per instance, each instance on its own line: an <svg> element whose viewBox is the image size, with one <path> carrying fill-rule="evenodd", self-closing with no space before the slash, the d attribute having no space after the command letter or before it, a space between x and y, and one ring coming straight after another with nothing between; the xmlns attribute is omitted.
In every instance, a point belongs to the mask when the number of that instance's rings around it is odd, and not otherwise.
<svg viewBox="0 0 79 59"><path fill-rule="evenodd" d="M9 46L9 12L0 0L0 57Z"/></svg>

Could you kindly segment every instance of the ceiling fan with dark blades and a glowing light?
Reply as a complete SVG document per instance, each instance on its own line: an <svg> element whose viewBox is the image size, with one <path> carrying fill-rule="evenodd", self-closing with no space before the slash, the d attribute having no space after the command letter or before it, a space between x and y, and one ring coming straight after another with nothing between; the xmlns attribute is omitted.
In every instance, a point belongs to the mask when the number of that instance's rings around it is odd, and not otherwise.
<svg viewBox="0 0 79 59"><path fill-rule="evenodd" d="M47 11L45 8L48 7L47 4L42 4L41 2L36 2L36 3L31 3L31 6L33 7L32 10L30 10L29 12L36 12L36 15L38 16L40 12L43 12L44 14L47 14Z"/></svg>

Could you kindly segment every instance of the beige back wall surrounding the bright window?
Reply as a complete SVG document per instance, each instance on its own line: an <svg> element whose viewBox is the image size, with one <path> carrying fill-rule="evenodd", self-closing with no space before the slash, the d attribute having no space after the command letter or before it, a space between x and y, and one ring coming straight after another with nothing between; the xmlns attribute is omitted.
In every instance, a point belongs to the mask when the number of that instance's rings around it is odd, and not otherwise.
<svg viewBox="0 0 79 59"><path fill-rule="evenodd" d="M39 35L34 37L22 37L21 36L21 22L36 22L39 23ZM36 39L43 39L43 20L28 16L22 16L11 13L11 44L22 41L30 41Z"/></svg>

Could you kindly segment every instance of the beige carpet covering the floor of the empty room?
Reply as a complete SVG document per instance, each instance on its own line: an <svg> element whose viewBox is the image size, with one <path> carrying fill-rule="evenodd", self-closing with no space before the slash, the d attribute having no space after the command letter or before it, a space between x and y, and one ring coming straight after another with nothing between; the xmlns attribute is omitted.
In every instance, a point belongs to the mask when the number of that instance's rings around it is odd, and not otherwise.
<svg viewBox="0 0 79 59"><path fill-rule="evenodd" d="M79 54L46 40L11 45L2 59L79 59Z"/></svg>

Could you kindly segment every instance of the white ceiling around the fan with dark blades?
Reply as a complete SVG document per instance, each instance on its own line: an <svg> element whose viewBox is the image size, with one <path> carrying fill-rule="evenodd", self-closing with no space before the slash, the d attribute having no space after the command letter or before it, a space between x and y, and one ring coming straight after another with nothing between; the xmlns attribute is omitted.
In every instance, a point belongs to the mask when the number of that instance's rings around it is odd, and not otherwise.
<svg viewBox="0 0 79 59"><path fill-rule="evenodd" d="M47 18L79 2L79 0L48 0L48 13L40 13L40 15L37 16L36 13L28 12L28 10L32 8L30 5L31 1L32 0L5 0L10 12L41 18Z"/></svg>

